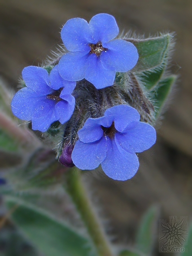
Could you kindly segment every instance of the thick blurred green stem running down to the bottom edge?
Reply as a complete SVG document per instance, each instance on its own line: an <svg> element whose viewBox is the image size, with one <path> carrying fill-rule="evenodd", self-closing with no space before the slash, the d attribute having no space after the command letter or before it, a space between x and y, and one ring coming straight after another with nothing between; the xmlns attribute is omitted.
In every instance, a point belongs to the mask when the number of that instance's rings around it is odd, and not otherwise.
<svg viewBox="0 0 192 256"><path fill-rule="evenodd" d="M92 238L98 255L114 256L103 227L94 212L90 199L88 198L87 191L81 180L81 172L79 169L74 167L69 171L67 188L87 227L87 231Z"/></svg>

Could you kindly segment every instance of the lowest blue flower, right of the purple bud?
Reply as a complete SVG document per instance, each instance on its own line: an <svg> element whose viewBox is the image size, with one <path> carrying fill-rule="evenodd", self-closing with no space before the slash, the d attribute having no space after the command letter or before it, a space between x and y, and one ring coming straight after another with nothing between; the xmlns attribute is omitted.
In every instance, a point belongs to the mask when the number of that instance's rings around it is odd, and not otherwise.
<svg viewBox="0 0 192 256"><path fill-rule="evenodd" d="M125 181L139 168L135 152L147 150L156 141L156 131L140 122L139 112L131 106L113 106L100 118L88 118L78 132L72 152L73 163L92 170L100 163L107 176Z"/></svg>

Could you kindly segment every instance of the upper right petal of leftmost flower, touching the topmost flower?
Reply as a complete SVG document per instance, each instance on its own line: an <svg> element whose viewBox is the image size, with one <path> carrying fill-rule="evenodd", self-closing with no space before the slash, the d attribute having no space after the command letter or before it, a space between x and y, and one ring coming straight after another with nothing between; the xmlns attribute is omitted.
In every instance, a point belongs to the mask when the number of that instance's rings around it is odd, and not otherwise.
<svg viewBox="0 0 192 256"><path fill-rule="evenodd" d="M65 94L71 94L76 86L76 82L67 81L61 77L58 71L58 65L54 66L54 68L52 69L49 75L49 79L51 83L50 87L52 89L58 90L63 87L64 89L62 90L62 92Z"/></svg>

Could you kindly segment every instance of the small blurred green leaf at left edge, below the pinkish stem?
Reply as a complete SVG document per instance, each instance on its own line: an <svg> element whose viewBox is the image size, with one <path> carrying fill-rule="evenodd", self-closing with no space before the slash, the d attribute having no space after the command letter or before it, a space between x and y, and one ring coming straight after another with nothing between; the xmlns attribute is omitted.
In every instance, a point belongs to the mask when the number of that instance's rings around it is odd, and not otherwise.
<svg viewBox="0 0 192 256"><path fill-rule="evenodd" d="M2 129L0 129L0 150L16 152L18 145L13 138L9 137Z"/></svg>

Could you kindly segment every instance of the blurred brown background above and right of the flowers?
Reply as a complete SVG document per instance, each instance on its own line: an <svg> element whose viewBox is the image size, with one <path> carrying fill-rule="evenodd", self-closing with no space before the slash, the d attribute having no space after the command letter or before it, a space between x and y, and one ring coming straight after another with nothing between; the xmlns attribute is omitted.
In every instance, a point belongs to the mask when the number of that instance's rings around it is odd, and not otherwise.
<svg viewBox="0 0 192 256"><path fill-rule="evenodd" d="M146 37L176 32L172 68L179 79L158 127L157 144L140 154L140 170L130 181L85 174L112 224L114 241L130 242L152 204L160 207L161 219L192 220L192 1L0 0L0 76L16 88L23 67L38 65L61 43L59 33L69 18L89 21L103 12L115 16L120 30L132 29Z"/></svg>

